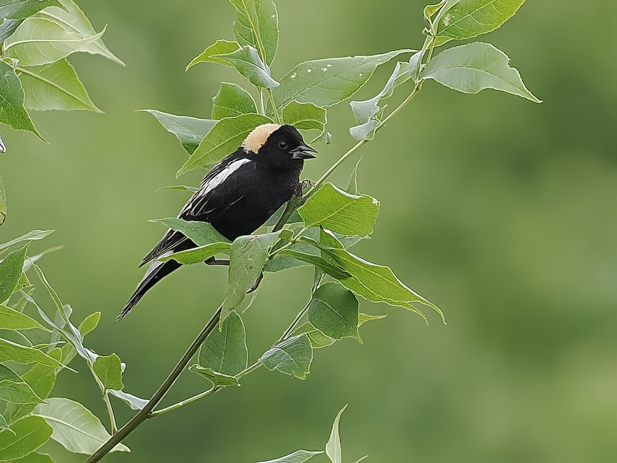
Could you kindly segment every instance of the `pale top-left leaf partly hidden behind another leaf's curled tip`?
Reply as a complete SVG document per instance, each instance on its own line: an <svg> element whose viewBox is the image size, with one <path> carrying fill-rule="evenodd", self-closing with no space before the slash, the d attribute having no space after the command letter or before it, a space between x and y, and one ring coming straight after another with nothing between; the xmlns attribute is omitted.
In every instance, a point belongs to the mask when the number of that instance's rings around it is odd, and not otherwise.
<svg viewBox="0 0 617 463"><path fill-rule="evenodd" d="M59 23L67 31L79 34L82 36L96 35L96 31L92 27L92 24L81 11L80 7L72 0L60 0L62 8L48 8L39 12L38 17L51 19L54 22ZM109 51L102 39L93 41L85 47L82 47L80 52L86 52L90 54L97 54L106 57L118 64L124 66L125 64L116 55Z"/></svg>

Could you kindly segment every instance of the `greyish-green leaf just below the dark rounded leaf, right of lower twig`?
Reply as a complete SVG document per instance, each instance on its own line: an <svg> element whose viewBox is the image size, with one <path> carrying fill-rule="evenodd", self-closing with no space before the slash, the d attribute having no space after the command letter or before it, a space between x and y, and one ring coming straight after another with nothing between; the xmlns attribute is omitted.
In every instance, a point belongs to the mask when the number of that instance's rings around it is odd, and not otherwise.
<svg viewBox="0 0 617 463"><path fill-rule="evenodd" d="M297 379L306 379L313 361L313 349L306 334L277 343L259 361L270 371L278 370Z"/></svg>

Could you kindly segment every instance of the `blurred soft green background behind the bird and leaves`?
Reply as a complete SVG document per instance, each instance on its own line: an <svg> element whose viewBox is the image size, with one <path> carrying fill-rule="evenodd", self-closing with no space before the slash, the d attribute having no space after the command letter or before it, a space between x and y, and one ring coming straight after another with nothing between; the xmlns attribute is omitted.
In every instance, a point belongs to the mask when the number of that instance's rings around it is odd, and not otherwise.
<svg viewBox="0 0 617 463"><path fill-rule="evenodd" d="M362 192L381 200L372 240L355 248L387 263L444 309L425 326L404 309L316 351L305 382L265 369L214 398L146 422L109 462L246 462L325 443L349 403L346 462L608 462L617 459L617 162L611 28L617 4L528 2L480 38L505 51L544 104L483 91L466 96L429 81L375 142L362 148ZM2 178L8 240L57 229L36 250L64 245L41 264L80 321L100 310L89 345L128 364L126 391L149 396L218 306L225 269L192 266L158 285L108 329L141 278L137 269L175 216L186 154L150 115L154 108L208 117L231 68L184 67L215 39L232 39L233 6L195 2L94 2L80 6L128 65L73 55L95 113L34 113L49 145L6 126ZM279 0L279 78L296 62L420 47L423 2ZM358 94L373 96L394 62ZM399 97L403 91L399 91ZM391 102L395 104L395 102ZM334 146L318 146L316 179L352 145L347 104L330 114ZM350 160L333 175L346 186ZM182 179L196 184L197 175ZM251 358L276 340L310 291L312 271L270 276L244 314ZM39 289L40 291L40 289ZM54 395L86 404L106 422L91 377L64 372ZM168 396L205 387L186 375ZM121 422L130 417L117 403ZM67 456L47 446L57 461ZM63 455L63 456L60 456Z"/></svg>

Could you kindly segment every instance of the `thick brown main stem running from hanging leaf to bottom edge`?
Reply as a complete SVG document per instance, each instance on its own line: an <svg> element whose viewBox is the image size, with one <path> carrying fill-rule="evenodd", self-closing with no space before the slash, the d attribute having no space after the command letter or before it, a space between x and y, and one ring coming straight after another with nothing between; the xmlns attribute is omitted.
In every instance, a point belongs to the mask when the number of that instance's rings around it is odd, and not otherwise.
<svg viewBox="0 0 617 463"><path fill-rule="evenodd" d="M146 406L141 409L138 414L136 414L131 420L126 423L120 430L118 430L115 435L111 436L111 438L102 445L96 452L94 452L85 463L95 463L100 461L102 457L106 456L107 453L112 451L112 449L118 445L126 436L128 436L136 427L142 424L148 417L148 415L154 410L155 406L157 406L160 401L165 397L167 391L173 386L173 383L176 382L178 376L180 376L181 372L184 370L184 367L191 361L191 358L199 349L199 346L202 342L204 342L205 338L212 332L213 329L216 328L218 320L220 319L222 306L219 306L215 314L210 318L210 321L206 324L204 329L202 329L201 333L197 336L197 338L193 341L191 346L188 348L186 353L182 356L178 364L172 370L172 372L168 375L167 379L162 383L159 389L154 393L150 401L146 404Z"/></svg>

